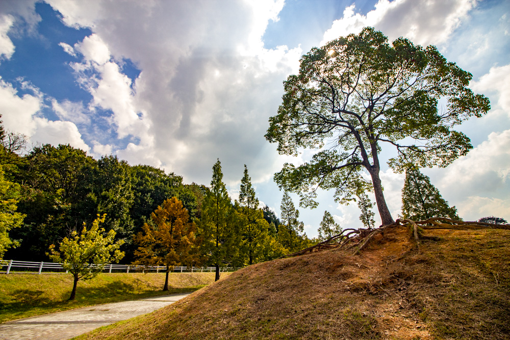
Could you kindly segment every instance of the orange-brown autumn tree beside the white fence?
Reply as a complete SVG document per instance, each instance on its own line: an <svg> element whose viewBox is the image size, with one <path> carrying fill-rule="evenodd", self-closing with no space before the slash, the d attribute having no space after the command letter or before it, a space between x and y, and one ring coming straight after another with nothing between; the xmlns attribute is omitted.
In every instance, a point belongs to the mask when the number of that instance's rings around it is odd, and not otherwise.
<svg viewBox="0 0 510 340"><path fill-rule="evenodd" d="M134 237L138 249L135 265L166 266L165 286L168 291L168 273L176 265L192 265L196 259L192 251L195 245L196 226L190 222L188 211L175 197L169 198L150 215L150 223Z"/></svg>

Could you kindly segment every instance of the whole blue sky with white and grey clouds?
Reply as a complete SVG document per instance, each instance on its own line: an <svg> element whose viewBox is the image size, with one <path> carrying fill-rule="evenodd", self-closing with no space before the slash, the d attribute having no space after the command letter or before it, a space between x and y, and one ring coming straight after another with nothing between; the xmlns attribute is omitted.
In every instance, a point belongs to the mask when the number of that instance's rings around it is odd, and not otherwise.
<svg viewBox="0 0 510 340"><path fill-rule="evenodd" d="M219 158L237 197L243 165L259 199L279 213L272 181L285 162L264 139L282 82L313 46L373 26L438 46L473 74L491 111L460 126L474 149L446 169L424 169L465 220L510 220L510 4L504 0L0 2L0 113L31 143L70 143L208 185ZM383 150L388 157L391 150ZM403 175L385 168L399 213ZM297 197L294 201L297 204ZM319 195L300 209L310 236L324 210L360 226L355 205Z"/></svg>

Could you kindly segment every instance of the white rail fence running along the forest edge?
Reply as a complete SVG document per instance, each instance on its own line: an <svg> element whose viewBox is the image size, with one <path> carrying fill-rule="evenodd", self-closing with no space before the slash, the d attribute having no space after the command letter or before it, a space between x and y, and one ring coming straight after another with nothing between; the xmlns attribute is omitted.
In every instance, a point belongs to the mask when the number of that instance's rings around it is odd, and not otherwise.
<svg viewBox="0 0 510 340"><path fill-rule="evenodd" d="M6 268L6 274L9 274L11 271L25 271L25 272L35 272L37 271L38 274L41 274L43 270L50 271L50 272L62 272L64 271L64 268L59 263L53 263L53 262L30 262L30 261L15 261L15 260L0 260L0 266L2 270L4 270L4 267ZM89 266L95 266L95 265L89 265ZM21 269L17 269L21 268ZM222 272L231 272L235 271L238 268L228 268L228 267L221 267L220 270ZM103 272L164 272L166 271L166 266L132 266L132 265L106 265L103 268ZM214 272L215 267L171 267L171 272L180 272L180 273L193 273L193 272ZM67 273L67 271L65 271Z"/></svg>

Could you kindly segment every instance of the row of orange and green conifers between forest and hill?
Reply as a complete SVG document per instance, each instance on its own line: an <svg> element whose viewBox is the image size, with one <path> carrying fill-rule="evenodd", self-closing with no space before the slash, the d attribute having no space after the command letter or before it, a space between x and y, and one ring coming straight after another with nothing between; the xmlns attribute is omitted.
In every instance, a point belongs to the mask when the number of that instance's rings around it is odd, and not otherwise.
<svg viewBox="0 0 510 340"><path fill-rule="evenodd" d="M260 208L246 165L239 200L232 202L218 160L201 204L200 219L189 218L176 197L165 200L136 234L139 247L135 263L164 265L167 273L175 265L208 264L216 268L218 280L220 267L251 265L311 245L298 217L287 193L282 200L281 219L267 206Z"/></svg>

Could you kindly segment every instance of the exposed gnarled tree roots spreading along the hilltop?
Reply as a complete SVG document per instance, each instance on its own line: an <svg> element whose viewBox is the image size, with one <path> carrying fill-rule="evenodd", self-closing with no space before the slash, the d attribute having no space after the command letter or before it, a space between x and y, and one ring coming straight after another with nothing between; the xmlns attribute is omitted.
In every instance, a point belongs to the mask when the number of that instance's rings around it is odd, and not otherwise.
<svg viewBox="0 0 510 340"><path fill-rule="evenodd" d="M331 248L342 248L347 245L347 249L353 248L355 246L359 246L358 249L354 252L354 255L359 254L363 249L365 249L373 240L374 236L379 233L384 234L386 228L396 227L396 226L408 226L413 230L413 239L416 242L416 245L419 246L419 242L421 239L428 239L428 237L420 235L420 229L452 229L452 230L475 230L475 229L508 229L510 230L510 225L508 224L493 224L493 223L484 223L484 222L465 222L465 221L456 221L443 217L435 217L429 218L424 221L413 221L410 219L397 219L394 223L388 224L385 226L380 226L377 229L345 229L342 230L341 233L335 235L323 242L316 244L315 246L296 251L295 253L284 255L279 258L290 257L290 256L298 256L306 253L312 253L315 251L327 250Z"/></svg>

